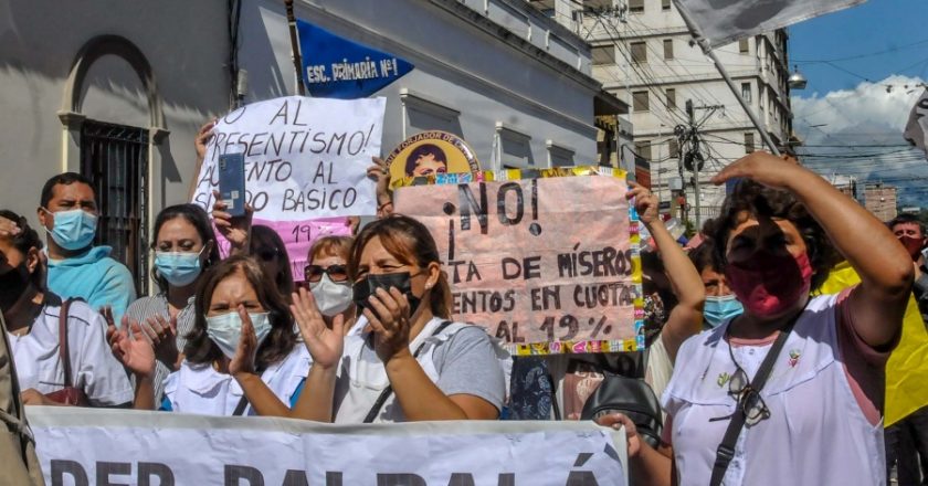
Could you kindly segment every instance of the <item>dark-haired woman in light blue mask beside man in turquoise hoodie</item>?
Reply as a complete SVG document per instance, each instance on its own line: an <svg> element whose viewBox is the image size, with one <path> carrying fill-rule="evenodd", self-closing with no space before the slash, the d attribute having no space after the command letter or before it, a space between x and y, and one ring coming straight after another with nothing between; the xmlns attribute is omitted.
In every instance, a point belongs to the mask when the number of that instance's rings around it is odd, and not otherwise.
<svg viewBox="0 0 928 486"><path fill-rule="evenodd" d="M219 263L219 250L209 216L196 204L165 208L151 232L155 265L151 278L158 293L129 305L122 328L140 324L155 347L155 397L160 400L164 380L180 366L187 334L193 329L193 294L201 275ZM104 315L109 317L109 311Z"/></svg>

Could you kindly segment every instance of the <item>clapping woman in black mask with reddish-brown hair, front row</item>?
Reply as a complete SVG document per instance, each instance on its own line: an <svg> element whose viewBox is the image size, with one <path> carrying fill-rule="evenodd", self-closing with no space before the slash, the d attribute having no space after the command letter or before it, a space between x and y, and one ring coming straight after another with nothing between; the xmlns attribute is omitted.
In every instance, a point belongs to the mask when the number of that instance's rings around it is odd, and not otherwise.
<svg viewBox="0 0 928 486"><path fill-rule="evenodd" d="M497 350L479 327L450 320L435 241L407 216L375 221L351 246L348 274L363 318L342 338L312 294L291 310L313 355L299 416L321 422L494 420L505 394ZM344 345L344 347L342 347ZM344 350L344 355L342 355ZM340 359L344 358L344 359Z"/></svg>

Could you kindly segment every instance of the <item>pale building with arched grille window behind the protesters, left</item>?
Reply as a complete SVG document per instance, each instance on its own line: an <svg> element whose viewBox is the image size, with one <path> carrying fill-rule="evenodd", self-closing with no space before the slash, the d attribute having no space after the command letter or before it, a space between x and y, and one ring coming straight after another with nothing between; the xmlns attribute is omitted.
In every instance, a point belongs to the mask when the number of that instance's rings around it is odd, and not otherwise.
<svg viewBox="0 0 928 486"><path fill-rule="evenodd" d="M387 152L443 129L484 169L590 163L597 117L628 110L591 76L589 44L521 0L296 0L295 13L415 66L376 94ZM283 0L2 0L0 38L0 208L34 223L48 178L88 176L99 239L141 292L151 223L187 200L197 129L232 106L236 68L245 103L296 93Z"/></svg>

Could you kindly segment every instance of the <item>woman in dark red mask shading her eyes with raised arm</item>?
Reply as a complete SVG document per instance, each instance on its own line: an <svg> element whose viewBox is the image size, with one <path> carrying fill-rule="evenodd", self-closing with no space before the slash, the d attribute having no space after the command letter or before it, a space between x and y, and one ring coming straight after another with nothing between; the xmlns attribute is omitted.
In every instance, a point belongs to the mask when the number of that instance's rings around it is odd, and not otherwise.
<svg viewBox="0 0 928 486"><path fill-rule="evenodd" d="M628 418L600 423L626 427L639 484L885 485L884 367L911 293L911 258L883 223L801 166L755 152L713 181L736 178L749 180L726 199L713 239L744 314L681 348L657 450ZM832 245L862 282L810 297L834 263Z"/></svg>

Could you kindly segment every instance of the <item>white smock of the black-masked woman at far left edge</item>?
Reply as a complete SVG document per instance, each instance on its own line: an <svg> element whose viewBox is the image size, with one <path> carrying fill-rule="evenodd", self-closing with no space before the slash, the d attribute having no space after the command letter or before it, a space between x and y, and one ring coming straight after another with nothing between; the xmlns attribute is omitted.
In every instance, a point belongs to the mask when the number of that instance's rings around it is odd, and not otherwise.
<svg viewBox="0 0 928 486"><path fill-rule="evenodd" d="M29 334L10 337L20 388L51 393L64 388L64 367L59 356L61 303L48 299ZM133 401L133 385L123 364L106 344L106 321L86 303L74 300L67 311L67 344L72 385L84 390L93 406L113 406Z"/></svg>

